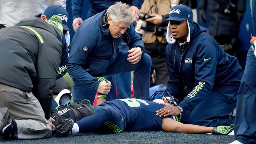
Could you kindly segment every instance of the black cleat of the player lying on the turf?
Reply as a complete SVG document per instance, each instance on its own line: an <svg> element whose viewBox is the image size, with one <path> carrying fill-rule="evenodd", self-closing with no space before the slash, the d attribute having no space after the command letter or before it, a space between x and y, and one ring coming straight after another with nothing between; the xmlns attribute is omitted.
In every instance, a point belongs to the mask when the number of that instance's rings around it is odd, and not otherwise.
<svg viewBox="0 0 256 144"><path fill-rule="evenodd" d="M57 137L68 136L72 130L73 125L74 125L74 121L71 118L62 120L59 126L56 126L54 129L52 129L52 136L57 136Z"/></svg>

